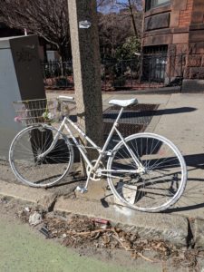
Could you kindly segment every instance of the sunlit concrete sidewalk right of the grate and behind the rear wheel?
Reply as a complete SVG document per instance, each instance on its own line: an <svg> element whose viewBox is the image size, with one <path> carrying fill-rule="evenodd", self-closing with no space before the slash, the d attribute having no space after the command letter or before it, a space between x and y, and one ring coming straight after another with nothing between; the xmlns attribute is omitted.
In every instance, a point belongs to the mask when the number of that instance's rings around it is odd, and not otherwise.
<svg viewBox="0 0 204 272"><path fill-rule="evenodd" d="M132 95L104 95L106 104L112 98ZM204 94L136 95L141 103L159 103L156 116L146 131L173 141L182 152L189 179L174 214L204 219Z"/></svg>

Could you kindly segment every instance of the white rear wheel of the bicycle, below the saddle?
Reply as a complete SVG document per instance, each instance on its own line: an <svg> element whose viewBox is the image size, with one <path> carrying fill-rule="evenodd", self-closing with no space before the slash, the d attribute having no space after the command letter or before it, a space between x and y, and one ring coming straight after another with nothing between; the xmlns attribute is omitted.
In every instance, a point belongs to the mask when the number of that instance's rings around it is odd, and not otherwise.
<svg viewBox="0 0 204 272"><path fill-rule="evenodd" d="M187 169L180 151L171 141L153 133L134 134L125 142L129 151L119 142L107 163L113 195L131 209L168 209L186 186Z"/></svg>

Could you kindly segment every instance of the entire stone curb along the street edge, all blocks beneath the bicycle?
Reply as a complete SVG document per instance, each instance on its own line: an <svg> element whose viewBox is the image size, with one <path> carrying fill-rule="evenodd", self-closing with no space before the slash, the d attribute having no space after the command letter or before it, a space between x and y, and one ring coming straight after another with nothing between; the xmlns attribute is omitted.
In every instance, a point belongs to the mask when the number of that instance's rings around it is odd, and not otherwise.
<svg viewBox="0 0 204 272"><path fill-rule="evenodd" d="M0 195L20 199L34 204L53 205L53 210L108 219L113 226L126 231L137 232L141 238L163 239L179 247L187 247L192 242L192 235L198 248L204 248L204 220L189 219L165 213L141 213L118 205L103 208L98 200L65 199L47 191L24 185L0 181ZM48 203L48 204L47 204Z"/></svg>

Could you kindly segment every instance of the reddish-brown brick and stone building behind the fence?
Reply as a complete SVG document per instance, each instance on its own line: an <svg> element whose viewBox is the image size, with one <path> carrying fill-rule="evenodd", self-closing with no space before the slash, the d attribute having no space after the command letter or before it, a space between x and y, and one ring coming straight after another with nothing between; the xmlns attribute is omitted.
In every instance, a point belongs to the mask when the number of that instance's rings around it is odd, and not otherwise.
<svg viewBox="0 0 204 272"><path fill-rule="evenodd" d="M164 81L180 77L184 91L204 91L204 0L146 0L142 48L167 56Z"/></svg>

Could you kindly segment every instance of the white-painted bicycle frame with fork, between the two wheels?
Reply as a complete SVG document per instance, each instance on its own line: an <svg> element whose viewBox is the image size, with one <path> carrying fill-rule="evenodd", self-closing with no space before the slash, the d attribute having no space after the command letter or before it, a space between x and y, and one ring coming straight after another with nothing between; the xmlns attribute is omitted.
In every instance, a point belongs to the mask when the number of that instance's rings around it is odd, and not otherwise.
<svg viewBox="0 0 204 272"><path fill-rule="evenodd" d="M85 187L84 189L87 189L87 186L88 186L88 182L89 182L89 179L90 179L90 176L91 176L91 173L98 173L100 175L108 175L110 172L118 172L118 173L126 173L127 170L107 170L107 169L100 169L99 170L99 165L100 165L100 162L102 160L102 157L104 157L104 155L108 155L108 156L112 156L112 151L106 151L107 147L108 147L108 144L109 142L111 141L112 139L112 135L114 133L114 131L116 131L116 133L118 134L118 136L120 137L122 143L124 144L124 146L126 147L127 151L129 151L130 155L131 155L131 158L134 160L135 162L135 165L137 166L137 169L136 170L128 170L129 173L132 172L132 173L141 173L144 168L141 164L141 161L135 156L134 152L131 150L131 148L127 145L125 139L122 137L121 135L121 132L118 131L117 127L119 125L118 121L120 120L121 118L121 114L123 112L124 108L121 107L121 110L116 118L116 120L114 121L113 125L112 125L112 130L110 131L109 135L108 135L108 138L106 139L102 149L100 147L98 147L69 117L64 117L63 118L63 121L58 129L58 132L59 133L56 133L54 139L53 139L53 142L51 144L51 146L49 147L49 149L47 151L44 151L44 153L42 153L41 155L38 156L38 159L41 159L43 158L44 156L46 156L50 151L53 150L54 146L55 146L55 143L58 141L59 139L59 136L60 136L60 132L63 131L63 129L65 128L66 131L68 132L69 136L73 139L73 142L75 144L75 146L78 148L78 150L81 152L82 156L83 156L83 159L85 160L85 162L87 163L88 167L90 168L90 171L88 173L88 177L87 177L87 181L86 181L86 184L85 184ZM98 159L95 161L94 165L92 165L92 162L88 159L87 155L86 155L86 152L84 151L83 149L83 146L76 140L76 138L74 137L73 135L73 132L71 131L69 125L71 125L75 131L78 131L80 133L80 135L82 136L83 139L85 139L86 141L88 141L91 145L92 145L92 148L97 150L99 152L99 157Z"/></svg>

